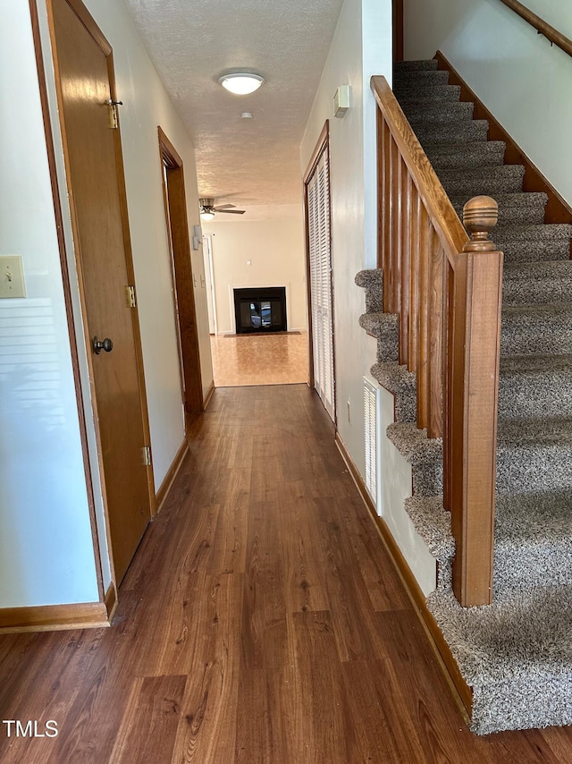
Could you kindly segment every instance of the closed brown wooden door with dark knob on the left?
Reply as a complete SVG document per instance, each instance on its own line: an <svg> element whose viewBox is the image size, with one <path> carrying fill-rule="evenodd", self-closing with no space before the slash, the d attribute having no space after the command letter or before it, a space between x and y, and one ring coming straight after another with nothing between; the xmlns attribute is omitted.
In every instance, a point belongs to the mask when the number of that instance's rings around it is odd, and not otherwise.
<svg viewBox="0 0 572 764"><path fill-rule="evenodd" d="M111 48L77 0L51 0L50 22L91 395L116 581L151 518L147 408L140 366ZM113 348L96 352L95 337Z"/></svg>

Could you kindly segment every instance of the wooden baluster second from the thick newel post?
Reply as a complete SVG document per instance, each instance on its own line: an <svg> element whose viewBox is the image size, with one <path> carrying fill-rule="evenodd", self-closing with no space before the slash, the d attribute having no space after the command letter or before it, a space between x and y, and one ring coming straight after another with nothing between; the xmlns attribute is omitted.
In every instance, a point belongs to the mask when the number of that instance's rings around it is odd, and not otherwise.
<svg viewBox="0 0 572 764"><path fill-rule="evenodd" d="M443 248L432 228L429 240L429 312L427 317L428 416L427 436L442 436L442 332L443 332Z"/></svg>

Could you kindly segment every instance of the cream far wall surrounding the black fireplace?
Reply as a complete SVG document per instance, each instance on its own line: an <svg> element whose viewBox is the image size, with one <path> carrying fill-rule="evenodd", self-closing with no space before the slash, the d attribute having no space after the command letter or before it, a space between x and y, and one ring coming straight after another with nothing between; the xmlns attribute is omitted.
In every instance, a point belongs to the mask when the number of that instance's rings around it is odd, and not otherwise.
<svg viewBox="0 0 572 764"><path fill-rule="evenodd" d="M288 328L307 328L302 208L285 219L203 223L212 237L216 321L219 334L235 331L232 289L285 286ZM249 261L249 264L248 264Z"/></svg>

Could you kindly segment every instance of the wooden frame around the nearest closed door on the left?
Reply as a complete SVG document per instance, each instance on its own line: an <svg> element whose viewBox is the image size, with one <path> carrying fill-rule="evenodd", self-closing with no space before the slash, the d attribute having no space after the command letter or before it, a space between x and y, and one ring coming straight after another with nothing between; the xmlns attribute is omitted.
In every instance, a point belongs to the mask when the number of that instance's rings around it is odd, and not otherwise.
<svg viewBox="0 0 572 764"><path fill-rule="evenodd" d="M34 0L30 0L30 4L33 2ZM114 74L114 55L113 55L113 49L111 45L105 38L105 35L103 34L103 32L99 29L97 22L93 19L91 14L88 12L88 9L81 2L81 0L65 0L65 2L71 7L71 10L74 13L76 13L80 22L83 24L83 26L86 28L90 36L96 41L97 45L100 47L100 49L104 53L106 64L107 64L107 73L109 77L111 98L114 101L117 101L118 95L117 95L115 74ZM77 275L78 275L77 291L78 291L78 296L80 301L80 313L81 313L80 321L81 321L81 327L83 330L83 342L84 342L83 347L82 348L78 347L77 351L78 353L81 353L83 355L82 360L85 361L87 365L87 369L88 369L87 384L89 387L89 392L85 391L84 395L89 400L89 405L91 407L91 411L93 412L93 429L95 432L96 452L97 452L95 455L95 459L97 460L97 470L99 473L100 488L101 488L101 494L103 499L103 509L104 509L104 516L105 516L105 537L106 537L107 549L109 553L109 565L111 569L112 581L114 582L114 586L116 587L117 576L116 576L115 568L114 568L114 553L113 553L113 544L112 544L111 532L110 532L110 517L109 517L106 490L105 490L105 471L104 471L103 456L101 451L101 437L100 437L100 432L98 428L99 417L97 412L97 397L96 397L95 383L94 383L95 377L94 377L94 369L93 369L93 358L92 358L92 353L89 352L91 348L91 338L88 332L87 305L86 305L86 298L85 298L85 293L83 289L83 269L82 269L81 253L80 253L80 246L79 246L80 236L78 233L77 212L75 208L75 200L73 195L73 185L72 185L71 171L70 171L70 167L71 167L70 157L69 157L68 149L67 149L65 125L63 124L62 85L61 85L61 81L59 77L58 67L56 64L57 46L55 44L55 26L54 26L52 3L53 3L53 0L46 0L47 23L49 28L50 45L52 49L53 60L55 61L55 64L54 64L55 93L57 96L57 105L59 110L58 123L59 123L59 130L62 135L63 164L65 168L65 174L62 176L59 182L58 182L57 176L56 175L53 176L53 183L55 183L56 187L59 186L60 198L62 198L62 192L67 193L67 199L68 199L67 203L70 210L72 241L70 243L69 249L70 251L73 252L74 263L75 263L75 267L76 267ZM133 254L131 249L130 225L129 225L129 215L128 215L128 207L127 207L127 191L126 191L125 173L123 168L123 156L122 156L121 123L120 123L119 115L117 115L117 122L118 122L117 130L114 130L114 151L115 151L115 165L116 165L116 172L117 172L118 192L119 192L119 200L120 200L123 251L124 251L124 257L125 257L125 267L127 271L128 281L130 285L135 287L135 269L133 266ZM134 345L134 351L135 351L136 370L137 370L137 378L138 378L138 386L139 386L138 397L139 397L139 409L140 409L141 423L142 423L142 429L143 429L143 437L147 446L150 447L151 433L150 433L149 417L148 417L148 409L147 409L147 388L145 384L145 373L143 368L143 352L142 352L142 345L141 345L141 334L140 334L140 327L139 327L139 309L137 307L137 301L136 301L136 306L131 308L130 310L130 317L131 317L131 326L132 326L132 332L133 332L133 345ZM79 377L76 378L76 386L80 386L80 387L82 386L82 383ZM88 444L84 444L84 449L88 450ZM152 459L150 459L149 462L150 462L149 464L146 464L146 478L147 478L147 497L148 497L149 513L150 513L150 518L152 519L156 515L156 490L155 490L155 479L153 475Z"/></svg>

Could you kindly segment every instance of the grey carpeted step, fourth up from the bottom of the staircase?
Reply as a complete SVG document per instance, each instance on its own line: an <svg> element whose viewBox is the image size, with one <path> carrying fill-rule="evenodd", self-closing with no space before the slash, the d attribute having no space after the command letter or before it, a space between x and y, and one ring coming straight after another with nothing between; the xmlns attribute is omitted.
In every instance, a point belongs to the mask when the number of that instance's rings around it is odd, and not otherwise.
<svg viewBox="0 0 572 764"><path fill-rule="evenodd" d="M572 417L572 355L501 356L501 420Z"/></svg>

